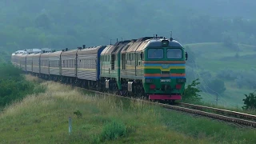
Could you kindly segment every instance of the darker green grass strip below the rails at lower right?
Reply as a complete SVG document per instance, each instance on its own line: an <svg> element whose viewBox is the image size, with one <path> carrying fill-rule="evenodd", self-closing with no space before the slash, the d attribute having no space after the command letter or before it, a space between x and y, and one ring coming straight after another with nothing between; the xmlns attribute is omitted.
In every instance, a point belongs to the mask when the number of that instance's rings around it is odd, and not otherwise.
<svg viewBox="0 0 256 144"><path fill-rule="evenodd" d="M170 130L198 139L209 139L219 143L255 143L255 130L238 130L224 123L210 121L207 118L193 118L186 114L171 112L164 114L163 123Z"/></svg>

